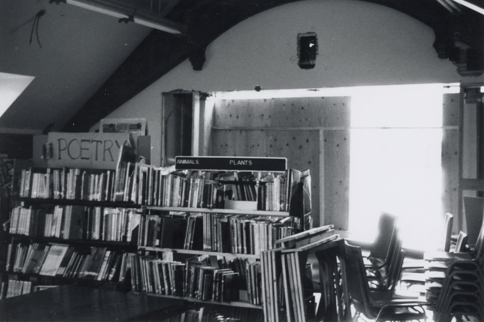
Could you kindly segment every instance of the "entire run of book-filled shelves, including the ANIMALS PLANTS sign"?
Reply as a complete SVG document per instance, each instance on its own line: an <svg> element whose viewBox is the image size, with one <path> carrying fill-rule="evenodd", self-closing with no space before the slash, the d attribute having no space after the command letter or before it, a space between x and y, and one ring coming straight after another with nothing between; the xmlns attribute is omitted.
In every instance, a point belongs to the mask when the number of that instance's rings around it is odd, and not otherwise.
<svg viewBox="0 0 484 322"><path fill-rule="evenodd" d="M8 279L261 310L261 254L307 228L309 174L284 158L175 162L15 169Z"/></svg>

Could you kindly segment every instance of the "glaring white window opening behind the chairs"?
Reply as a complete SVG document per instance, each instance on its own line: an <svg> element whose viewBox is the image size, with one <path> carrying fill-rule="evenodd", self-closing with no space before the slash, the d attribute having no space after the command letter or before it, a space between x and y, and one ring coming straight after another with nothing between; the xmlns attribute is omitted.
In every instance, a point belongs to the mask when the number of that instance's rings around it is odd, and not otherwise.
<svg viewBox="0 0 484 322"><path fill-rule="evenodd" d="M442 94L441 86L424 85L375 87L352 95L351 232L373 238L384 211L399 216L404 246L438 246Z"/></svg>

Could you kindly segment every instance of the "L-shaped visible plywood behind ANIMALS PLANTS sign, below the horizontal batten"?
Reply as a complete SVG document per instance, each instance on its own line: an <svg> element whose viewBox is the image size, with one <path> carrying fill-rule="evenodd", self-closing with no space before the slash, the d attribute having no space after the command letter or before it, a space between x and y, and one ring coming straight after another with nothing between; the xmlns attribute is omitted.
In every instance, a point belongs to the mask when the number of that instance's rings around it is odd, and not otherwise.
<svg viewBox="0 0 484 322"><path fill-rule="evenodd" d="M212 155L286 157L293 169L310 169L312 216L319 225L319 131L214 130Z"/></svg>

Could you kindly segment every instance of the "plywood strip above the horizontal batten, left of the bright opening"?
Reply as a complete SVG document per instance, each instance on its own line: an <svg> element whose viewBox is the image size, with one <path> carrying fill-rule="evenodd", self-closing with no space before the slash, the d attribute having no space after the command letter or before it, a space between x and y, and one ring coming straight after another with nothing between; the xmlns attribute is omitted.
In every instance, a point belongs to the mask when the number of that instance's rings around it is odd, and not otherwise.
<svg viewBox="0 0 484 322"><path fill-rule="evenodd" d="M214 127L349 126L349 97L218 100Z"/></svg>

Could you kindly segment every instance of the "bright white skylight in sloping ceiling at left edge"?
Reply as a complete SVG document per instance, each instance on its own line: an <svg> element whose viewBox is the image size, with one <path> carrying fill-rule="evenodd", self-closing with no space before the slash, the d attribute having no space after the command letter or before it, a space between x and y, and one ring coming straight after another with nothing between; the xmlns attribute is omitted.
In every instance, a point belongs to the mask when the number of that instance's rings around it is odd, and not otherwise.
<svg viewBox="0 0 484 322"><path fill-rule="evenodd" d="M0 73L0 116L15 102L34 78L33 76Z"/></svg>

